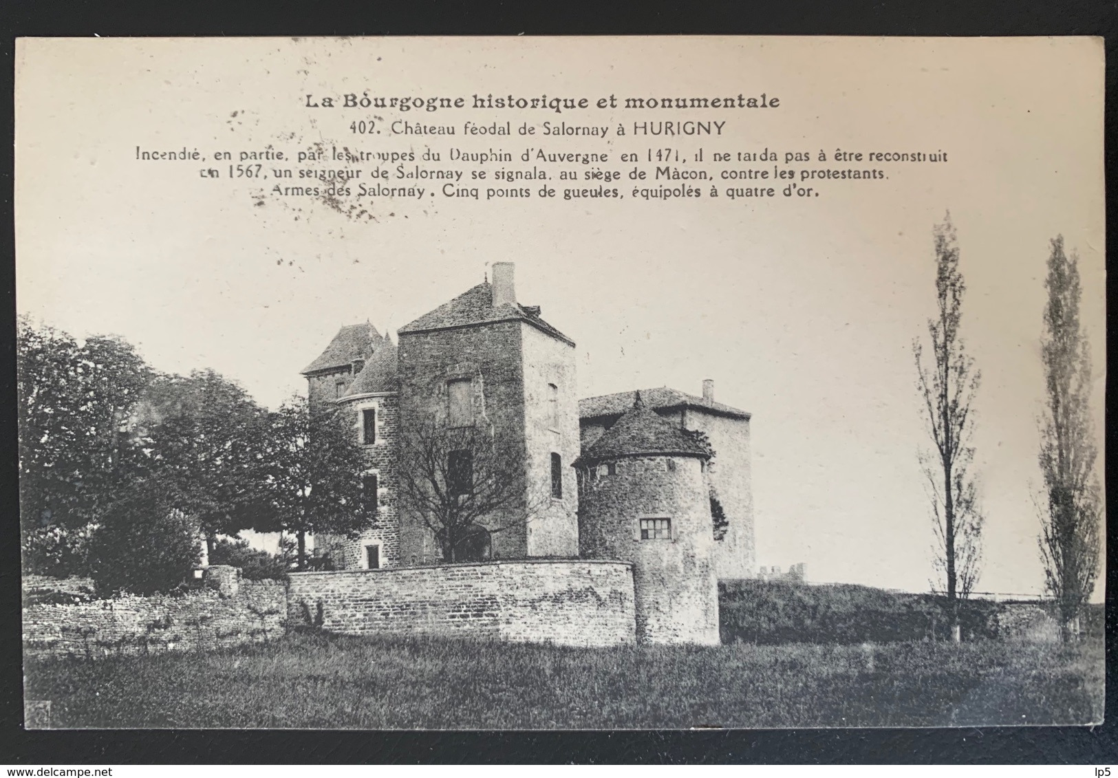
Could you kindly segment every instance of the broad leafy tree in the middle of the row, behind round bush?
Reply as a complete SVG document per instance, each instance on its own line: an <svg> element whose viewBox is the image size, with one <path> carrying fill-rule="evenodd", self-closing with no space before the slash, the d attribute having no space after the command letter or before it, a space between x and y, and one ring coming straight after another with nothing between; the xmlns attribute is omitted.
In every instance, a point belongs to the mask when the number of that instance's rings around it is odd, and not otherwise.
<svg viewBox="0 0 1118 778"><path fill-rule="evenodd" d="M174 506L197 518L207 550L217 535L273 518L267 411L212 370L164 376L136 414L146 467L174 486Z"/></svg>

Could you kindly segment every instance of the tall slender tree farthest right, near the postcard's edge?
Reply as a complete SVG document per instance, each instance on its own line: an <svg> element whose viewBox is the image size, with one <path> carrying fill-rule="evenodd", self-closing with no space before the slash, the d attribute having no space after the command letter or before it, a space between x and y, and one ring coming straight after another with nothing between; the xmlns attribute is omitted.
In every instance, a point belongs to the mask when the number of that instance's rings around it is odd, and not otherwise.
<svg viewBox="0 0 1118 778"><path fill-rule="evenodd" d="M1051 248L1041 339L1045 407L1040 466L1048 510L1041 512L1039 540L1045 582L1068 641L1078 635L1080 611L1095 590L1101 497L1089 407L1090 349L1079 323L1079 260L1064 254L1063 236L1052 240Z"/></svg>

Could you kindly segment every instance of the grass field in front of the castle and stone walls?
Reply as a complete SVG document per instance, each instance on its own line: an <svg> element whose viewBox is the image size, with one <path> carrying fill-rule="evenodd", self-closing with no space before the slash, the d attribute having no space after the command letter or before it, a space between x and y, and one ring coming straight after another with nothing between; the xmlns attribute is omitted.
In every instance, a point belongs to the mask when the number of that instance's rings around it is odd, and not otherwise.
<svg viewBox="0 0 1118 778"><path fill-rule="evenodd" d="M558 648L293 634L210 654L28 658L54 728L1086 724L1100 641Z"/></svg>

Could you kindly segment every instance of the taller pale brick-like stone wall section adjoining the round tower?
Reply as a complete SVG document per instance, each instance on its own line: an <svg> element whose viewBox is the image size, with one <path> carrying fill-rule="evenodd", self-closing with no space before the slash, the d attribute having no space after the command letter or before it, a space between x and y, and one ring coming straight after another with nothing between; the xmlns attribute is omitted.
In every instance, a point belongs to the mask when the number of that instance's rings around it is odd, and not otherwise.
<svg viewBox="0 0 1118 778"><path fill-rule="evenodd" d="M628 562L539 559L292 573L287 623L345 635L569 646L636 641Z"/></svg>

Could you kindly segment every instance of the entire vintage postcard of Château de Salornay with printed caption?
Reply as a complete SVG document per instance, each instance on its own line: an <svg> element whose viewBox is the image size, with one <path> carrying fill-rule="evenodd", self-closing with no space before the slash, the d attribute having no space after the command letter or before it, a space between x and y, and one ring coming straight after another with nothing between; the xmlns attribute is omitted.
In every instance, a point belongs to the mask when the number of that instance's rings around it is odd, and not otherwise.
<svg viewBox="0 0 1118 778"><path fill-rule="evenodd" d="M1102 720L1093 38L25 38L29 728Z"/></svg>

